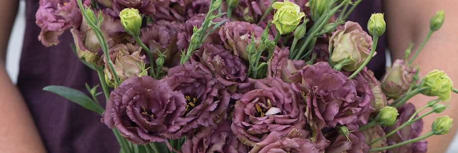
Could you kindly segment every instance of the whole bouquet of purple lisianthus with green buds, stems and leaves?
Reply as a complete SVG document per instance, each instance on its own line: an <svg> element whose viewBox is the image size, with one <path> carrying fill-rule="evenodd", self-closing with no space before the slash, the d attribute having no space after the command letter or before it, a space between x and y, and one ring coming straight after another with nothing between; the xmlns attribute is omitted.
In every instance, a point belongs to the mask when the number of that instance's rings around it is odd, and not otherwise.
<svg viewBox="0 0 458 153"><path fill-rule="evenodd" d="M43 90L99 113L122 153L424 153L453 119L420 135L422 118L458 90L411 63L444 11L378 81L365 66L385 21L372 14L369 33L344 21L360 1L40 0L38 39L70 30L102 87ZM417 94L438 99L417 109L406 103Z"/></svg>

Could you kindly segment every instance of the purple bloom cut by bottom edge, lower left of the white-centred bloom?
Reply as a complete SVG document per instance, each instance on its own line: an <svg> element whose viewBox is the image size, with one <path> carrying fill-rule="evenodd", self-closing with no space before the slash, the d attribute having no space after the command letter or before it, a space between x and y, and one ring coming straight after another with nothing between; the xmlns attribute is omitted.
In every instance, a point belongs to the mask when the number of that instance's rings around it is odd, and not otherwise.
<svg viewBox="0 0 458 153"><path fill-rule="evenodd" d="M202 127L181 147L183 153L246 153L247 146L238 142L230 131L230 121Z"/></svg>

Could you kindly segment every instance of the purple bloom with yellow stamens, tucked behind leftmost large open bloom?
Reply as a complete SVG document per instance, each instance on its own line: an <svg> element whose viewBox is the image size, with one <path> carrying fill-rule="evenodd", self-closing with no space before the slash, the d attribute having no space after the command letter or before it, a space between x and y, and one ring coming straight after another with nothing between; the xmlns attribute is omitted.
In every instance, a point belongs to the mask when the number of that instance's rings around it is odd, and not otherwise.
<svg viewBox="0 0 458 153"><path fill-rule="evenodd" d="M227 111L229 92L213 77L205 65L193 62L172 67L168 71L167 83L172 90L183 93L186 113L191 120L174 133L172 139L186 136L192 130L216 125Z"/></svg>

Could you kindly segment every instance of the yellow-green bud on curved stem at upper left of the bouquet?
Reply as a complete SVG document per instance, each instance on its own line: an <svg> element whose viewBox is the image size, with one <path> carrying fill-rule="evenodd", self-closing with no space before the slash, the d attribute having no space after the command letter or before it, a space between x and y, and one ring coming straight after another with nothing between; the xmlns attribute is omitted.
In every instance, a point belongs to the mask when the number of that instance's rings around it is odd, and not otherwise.
<svg viewBox="0 0 458 153"><path fill-rule="evenodd" d="M141 16L138 13L138 9L124 8L119 12L119 17L121 18L121 24L127 33L132 36L140 35Z"/></svg>

